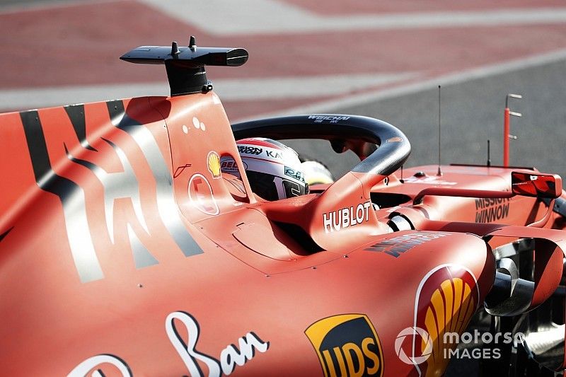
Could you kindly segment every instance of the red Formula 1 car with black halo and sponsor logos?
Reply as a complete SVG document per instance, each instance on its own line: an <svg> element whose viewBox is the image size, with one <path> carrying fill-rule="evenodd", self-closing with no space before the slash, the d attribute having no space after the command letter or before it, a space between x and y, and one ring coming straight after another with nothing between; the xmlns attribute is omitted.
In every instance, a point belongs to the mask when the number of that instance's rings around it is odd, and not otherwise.
<svg viewBox="0 0 566 377"><path fill-rule="evenodd" d="M244 64L243 49L192 39L122 59L164 64L171 96L0 115L3 375L564 369L558 175L401 175L408 139L368 117L231 125L204 66ZM361 162L267 202L236 148L248 137L326 139Z"/></svg>

